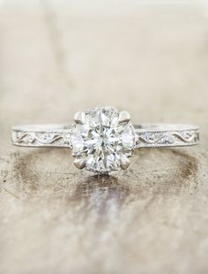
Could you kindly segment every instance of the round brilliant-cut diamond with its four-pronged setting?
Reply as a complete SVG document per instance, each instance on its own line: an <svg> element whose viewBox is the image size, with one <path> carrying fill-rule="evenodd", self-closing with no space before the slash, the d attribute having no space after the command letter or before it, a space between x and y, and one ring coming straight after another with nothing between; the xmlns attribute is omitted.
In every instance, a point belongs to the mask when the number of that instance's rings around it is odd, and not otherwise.
<svg viewBox="0 0 208 274"><path fill-rule="evenodd" d="M78 112L71 137L75 165L98 173L126 169L135 145L128 115L111 107Z"/></svg>

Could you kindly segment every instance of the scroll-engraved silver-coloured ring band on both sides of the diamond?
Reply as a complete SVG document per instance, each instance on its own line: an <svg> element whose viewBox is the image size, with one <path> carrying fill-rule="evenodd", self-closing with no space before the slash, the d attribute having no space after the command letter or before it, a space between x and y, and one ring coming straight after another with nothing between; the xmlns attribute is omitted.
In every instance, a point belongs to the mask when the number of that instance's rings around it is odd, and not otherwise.
<svg viewBox="0 0 208 274"><path fill-rule="evenodd" d="M14 126L11 142L21 147L71 148L71 125ZM135 125L136 148L181 147L197 145L197 126L175 124Z"/></svg>

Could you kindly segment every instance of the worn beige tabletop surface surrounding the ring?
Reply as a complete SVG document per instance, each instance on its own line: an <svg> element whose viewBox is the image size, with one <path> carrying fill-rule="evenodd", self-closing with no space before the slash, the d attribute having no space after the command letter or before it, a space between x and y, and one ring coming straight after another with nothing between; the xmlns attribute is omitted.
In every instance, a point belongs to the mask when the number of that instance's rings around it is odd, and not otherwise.
<svg viewBox="0 0 208 274"><path fill-rule="evenodd" d="M207 273L205 12L99 3L0 2L0 273ZM200 146L140 149L110 177L11 147L12 125L96 105L197 124Z"/></svg>

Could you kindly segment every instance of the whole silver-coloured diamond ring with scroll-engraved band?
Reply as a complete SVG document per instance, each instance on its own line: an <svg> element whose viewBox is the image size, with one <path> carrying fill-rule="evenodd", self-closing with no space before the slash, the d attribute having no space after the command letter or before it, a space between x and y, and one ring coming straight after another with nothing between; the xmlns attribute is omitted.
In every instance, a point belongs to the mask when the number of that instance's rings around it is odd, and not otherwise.
<svg viewBox="0 0 208 274"><path fill-rule="evenodd" d="M197 145L197 126L132 125L127 111L97 107L78 111L71 125L15 126L11 141L22 147L71 148L77 168L106 174L126 170L135 148Z"/></svg>

